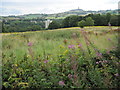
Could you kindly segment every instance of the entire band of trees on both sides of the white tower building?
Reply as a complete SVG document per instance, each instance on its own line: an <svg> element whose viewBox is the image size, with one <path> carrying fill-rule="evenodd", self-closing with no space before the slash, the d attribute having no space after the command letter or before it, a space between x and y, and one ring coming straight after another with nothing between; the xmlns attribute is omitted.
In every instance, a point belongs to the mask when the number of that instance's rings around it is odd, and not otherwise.
<svg viewBox="0 0 120 90"><path fill-rule="evenodd" d="M120 26L120 15L107 14L89 14L86 16L71 15L65 19L55 19L50 23L48 29L84 27L84 26ZM0 28L2 32L25 32L45 30L45 19L18 19L2 20Z"/></svg>

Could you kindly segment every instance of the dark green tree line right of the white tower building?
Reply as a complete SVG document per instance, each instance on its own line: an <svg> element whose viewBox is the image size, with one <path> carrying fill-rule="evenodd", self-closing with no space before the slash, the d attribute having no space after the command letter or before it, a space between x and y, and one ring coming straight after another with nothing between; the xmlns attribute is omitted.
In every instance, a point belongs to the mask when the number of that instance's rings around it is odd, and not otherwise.
<svg viewBox="0 0 120 90"><path fill-rule="evenodd" d="M120 26L120 15L107 14L89 14L86 16L72 15L66 17L62 22L54 20L49 25L49 29L67 28L67 27L84 27L84 26Z"/></svg>

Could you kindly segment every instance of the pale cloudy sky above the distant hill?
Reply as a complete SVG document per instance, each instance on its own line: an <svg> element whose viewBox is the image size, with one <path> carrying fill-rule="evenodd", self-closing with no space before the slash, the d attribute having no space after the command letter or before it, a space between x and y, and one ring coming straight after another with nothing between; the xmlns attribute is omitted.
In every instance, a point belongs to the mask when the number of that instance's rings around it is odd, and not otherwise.
<svg viewBox="0 0 120 90"><path fill-rule="evenodd" d="M52 14L72 9L114 10L120 0L0 0L0 16Z"/></svg>

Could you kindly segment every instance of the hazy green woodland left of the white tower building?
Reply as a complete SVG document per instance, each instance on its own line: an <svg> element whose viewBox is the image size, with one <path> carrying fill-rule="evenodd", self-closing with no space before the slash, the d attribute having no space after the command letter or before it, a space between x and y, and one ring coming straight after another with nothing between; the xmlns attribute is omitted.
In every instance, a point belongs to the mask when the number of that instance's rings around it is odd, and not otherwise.
<svg viewBox="0 0 120 90"><path fill-rule="evenodd" d="M44 30L43 20L3 20L1 23L2 32L26 32Z"/></svg>

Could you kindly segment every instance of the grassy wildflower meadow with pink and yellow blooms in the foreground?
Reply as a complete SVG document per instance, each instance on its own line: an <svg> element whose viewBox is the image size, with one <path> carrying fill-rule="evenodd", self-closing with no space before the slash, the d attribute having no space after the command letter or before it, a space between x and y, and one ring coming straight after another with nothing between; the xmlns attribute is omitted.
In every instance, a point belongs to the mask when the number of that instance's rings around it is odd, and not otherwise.
<svg viewBox="0 0 120 90"><path fill-rule="evenodd" d="M5 88L119 87L118 27L2 34Z"/></svg>

